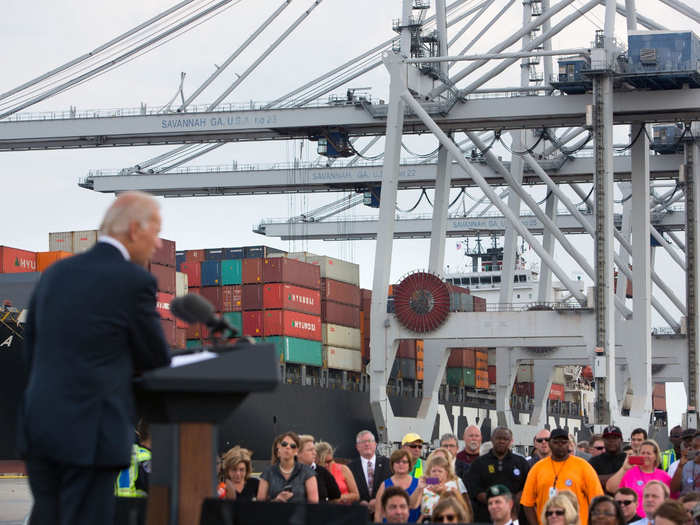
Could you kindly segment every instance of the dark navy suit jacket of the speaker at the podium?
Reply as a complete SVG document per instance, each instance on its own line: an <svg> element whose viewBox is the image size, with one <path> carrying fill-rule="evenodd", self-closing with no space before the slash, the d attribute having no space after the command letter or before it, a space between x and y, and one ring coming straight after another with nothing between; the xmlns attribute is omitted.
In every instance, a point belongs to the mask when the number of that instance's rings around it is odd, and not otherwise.
<svg viewBox="0 0 700 525"><path fill-rule="evenodd" d="M134 371L170 362L155 305L155 278L109 244L48 268L25 327L23 457L76 466L129 464Z"/></svg>

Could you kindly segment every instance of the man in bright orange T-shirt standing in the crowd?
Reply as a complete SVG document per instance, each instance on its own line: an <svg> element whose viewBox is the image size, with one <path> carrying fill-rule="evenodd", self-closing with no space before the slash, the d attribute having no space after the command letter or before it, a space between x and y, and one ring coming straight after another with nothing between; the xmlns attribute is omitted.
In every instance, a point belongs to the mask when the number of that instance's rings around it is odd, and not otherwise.
<svg viewBox="0 0 700 525"><path fill-rule="evenodd" d="M588 461L569 453L569 433L566 430L557 428L552 431L549 448L552 454L530 469L520 497L529 525L539 524L545 503L560 490L570 490L576 495L581 525L587 525L589 502L603 495L598 475Z"/></svg>

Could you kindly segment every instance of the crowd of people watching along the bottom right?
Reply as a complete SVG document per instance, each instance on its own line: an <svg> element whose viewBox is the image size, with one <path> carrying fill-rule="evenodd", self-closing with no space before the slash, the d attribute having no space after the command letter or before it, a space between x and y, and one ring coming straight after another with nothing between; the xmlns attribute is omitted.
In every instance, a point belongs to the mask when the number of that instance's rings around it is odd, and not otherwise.
<svg viewBox="0 0 700 525"><path fill-rule="evenodd" d="M390 457L372 432L356 436L348 464L313 436L286 432L271 464L251 476L251 453L234 447L220 461L219 496L244 501L364 505L376 523L495 525L688 525L700 519L700 433L675 427L661 451L643 429L623 442L618 427L576 443L566 430L542 429L530 456L512 450L505 427L482 443L476 426L427 443L406 434ZM697 471L697 473L696 473Z"/></svg>

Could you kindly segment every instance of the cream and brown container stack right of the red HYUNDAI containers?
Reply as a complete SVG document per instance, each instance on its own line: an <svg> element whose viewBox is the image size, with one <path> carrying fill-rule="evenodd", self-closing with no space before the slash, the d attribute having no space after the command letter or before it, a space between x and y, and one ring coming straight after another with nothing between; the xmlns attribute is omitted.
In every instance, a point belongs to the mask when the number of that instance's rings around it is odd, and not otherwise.
<svg viewBox="0 0 700 525"><path fill-rule="evenodd" d="M290 253L287 257L319 268L324 366L361 372L363 341L359 265L308 252ZM412 375L415 376L415 351L413 359Z"/></svg>

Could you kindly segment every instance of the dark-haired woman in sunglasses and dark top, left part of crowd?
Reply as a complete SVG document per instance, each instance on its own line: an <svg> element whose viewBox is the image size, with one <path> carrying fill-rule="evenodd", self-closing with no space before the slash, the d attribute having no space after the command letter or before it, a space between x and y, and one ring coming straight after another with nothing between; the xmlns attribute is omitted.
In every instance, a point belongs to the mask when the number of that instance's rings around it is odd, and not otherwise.
<svg viewBox="0 0 700 525"><path fill-rule="evenodd" d="M299 436L285 432L272 443L272 465L260 476L258 501L318 503L318 484L311 467L296 461Z"/></svg>

